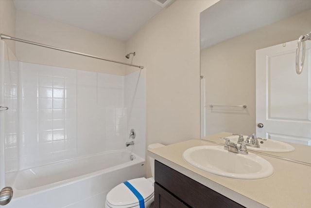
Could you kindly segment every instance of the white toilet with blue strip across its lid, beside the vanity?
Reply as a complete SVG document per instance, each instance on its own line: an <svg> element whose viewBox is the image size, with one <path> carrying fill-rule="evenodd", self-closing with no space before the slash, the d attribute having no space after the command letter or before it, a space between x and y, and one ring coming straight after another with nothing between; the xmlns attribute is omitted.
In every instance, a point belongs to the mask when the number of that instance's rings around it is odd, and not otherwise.
<svg viewBox="0 0 311 208"><path fill-rule="evenodd" d="M155 143L148 150L164 147ZM149 157L151 178L135 178L111 189L106 196L105 208L149 208L155 197L155 159ZM139 199L139 200L138 200Z"/></svg>

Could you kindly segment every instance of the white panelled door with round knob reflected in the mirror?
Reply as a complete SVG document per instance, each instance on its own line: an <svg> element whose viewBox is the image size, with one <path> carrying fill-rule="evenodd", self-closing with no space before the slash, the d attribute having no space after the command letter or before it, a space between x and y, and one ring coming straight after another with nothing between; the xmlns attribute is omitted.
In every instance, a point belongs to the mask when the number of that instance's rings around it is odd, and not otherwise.
<svg viewBox="0 0 311 208"><path fill-rule="evenodd" d="M260 137L311 145L311 41L296 75L297 41L256 51L256 128Z"/></svg>

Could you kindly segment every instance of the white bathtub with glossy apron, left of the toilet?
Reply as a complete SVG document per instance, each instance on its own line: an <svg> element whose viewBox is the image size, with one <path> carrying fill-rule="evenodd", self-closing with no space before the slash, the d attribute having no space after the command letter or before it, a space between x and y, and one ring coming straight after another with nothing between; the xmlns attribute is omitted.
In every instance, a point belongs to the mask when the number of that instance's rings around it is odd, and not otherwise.
<svg viewBox="0 0 311 208"><path fill-rule="evenodd" d="M106 194L123 181L145 176L145 160L110 151L20 170L6 208L104 208Z"/></svg>

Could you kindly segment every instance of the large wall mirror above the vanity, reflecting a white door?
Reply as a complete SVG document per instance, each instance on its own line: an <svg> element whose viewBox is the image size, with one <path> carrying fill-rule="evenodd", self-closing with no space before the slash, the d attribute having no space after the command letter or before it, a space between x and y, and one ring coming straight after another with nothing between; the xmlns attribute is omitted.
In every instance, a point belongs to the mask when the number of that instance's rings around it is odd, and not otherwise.
<svg viewBox="0 0 311 208"><path fill-rule="evenodd" d="M295 71L310 19L305 0L221 0L200 14L201 139L256 133L295 148L260 153L311 165L311 40Z"/></svg>

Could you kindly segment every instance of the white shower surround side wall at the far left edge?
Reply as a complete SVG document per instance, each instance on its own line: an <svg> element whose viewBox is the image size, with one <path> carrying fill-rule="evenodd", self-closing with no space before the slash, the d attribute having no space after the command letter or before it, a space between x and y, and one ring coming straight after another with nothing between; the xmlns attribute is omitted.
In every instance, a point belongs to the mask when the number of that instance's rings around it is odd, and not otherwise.
<svg viewBox="0 0 311 208"><path fill-rule="evenodd" d="M0 189L5 186L5 172L18 170L18 62L0 40L0 103L8 107L0 112ZM9 61L11 59L11 61Z"/></svg>

